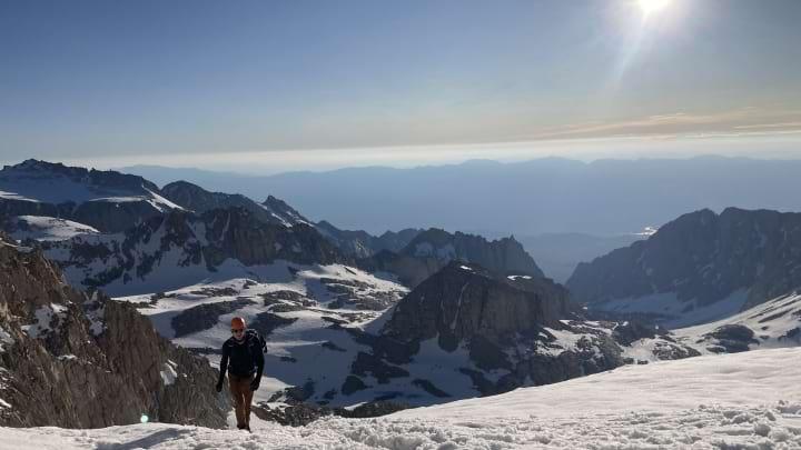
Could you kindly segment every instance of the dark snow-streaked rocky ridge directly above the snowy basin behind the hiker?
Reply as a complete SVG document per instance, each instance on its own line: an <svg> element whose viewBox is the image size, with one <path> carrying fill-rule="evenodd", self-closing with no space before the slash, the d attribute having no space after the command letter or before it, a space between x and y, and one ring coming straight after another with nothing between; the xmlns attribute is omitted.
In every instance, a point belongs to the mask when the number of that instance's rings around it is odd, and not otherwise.
<svg viewBox="0 0 801 450"><path fill-rule="evenodd" d="M244 267L276 260L309 264L348 262L310 226L264 223L240 208L199 216L172 211L122 234L79 236L39 244L65 269L73 286L106 287L112 291L155 279L161 279L161 284L168 287L180 281L190 284L231 261ZM171 277L178 278L171 281Z"/></svg>

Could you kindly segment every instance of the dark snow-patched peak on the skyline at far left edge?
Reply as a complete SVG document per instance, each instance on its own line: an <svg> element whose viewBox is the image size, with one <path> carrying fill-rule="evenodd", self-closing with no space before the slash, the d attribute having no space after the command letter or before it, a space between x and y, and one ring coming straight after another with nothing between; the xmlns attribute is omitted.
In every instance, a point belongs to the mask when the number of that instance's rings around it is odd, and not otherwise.
<svg viewBox="0 0 801 450"><path fill-rule="evenodd" d="M27 160L0 170L0 218L47 216L117 232L176 206L141 177Z"/></svg>

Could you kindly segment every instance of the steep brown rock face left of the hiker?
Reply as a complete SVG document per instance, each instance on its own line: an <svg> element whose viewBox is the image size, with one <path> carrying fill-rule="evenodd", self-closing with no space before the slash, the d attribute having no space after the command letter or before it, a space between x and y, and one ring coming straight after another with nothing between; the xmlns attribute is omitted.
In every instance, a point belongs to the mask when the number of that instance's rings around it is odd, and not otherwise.
<svg viewBox="0 0 801 450"><path fill-rule="evenodd" d="M97 428L150 420L222 428L208 361L127 303L61 280L41 252L0 238L0 424Z"/></svg>

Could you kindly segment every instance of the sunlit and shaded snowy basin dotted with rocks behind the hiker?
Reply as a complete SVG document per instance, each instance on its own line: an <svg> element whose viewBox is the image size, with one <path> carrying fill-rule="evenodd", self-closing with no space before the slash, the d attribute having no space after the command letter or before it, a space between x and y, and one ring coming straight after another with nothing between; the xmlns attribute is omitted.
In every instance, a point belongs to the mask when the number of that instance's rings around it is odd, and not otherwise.
<svg viewBox="0 0 801 450"><path fill-rule="evenodd" d="M216 350L230 337L233 317L244 317L254 326L266 314L277 324L268 327L269 333L263 329L267 339L266 368L256 401L267 401L277 391L303 386L307 379L316 380L315 397L325 400L323 396L327 391L340 388L356 354L368 350L366 344L356 342L345 327L362 330L380 321L408 291L400 284L342 264L300 266L276 261L241 270L247 278L208 280L174 291L116 300L139 303L139 311L150 318L161 336L204 353L212 366L219 364ZM219 274L225 273L230 271ZM231 310L212 314L207 327L177 332L176 321L181 321L181 313L200 306L224 304L231 306ZM367 396L365 392L353 402L373 400Z"/></svg>

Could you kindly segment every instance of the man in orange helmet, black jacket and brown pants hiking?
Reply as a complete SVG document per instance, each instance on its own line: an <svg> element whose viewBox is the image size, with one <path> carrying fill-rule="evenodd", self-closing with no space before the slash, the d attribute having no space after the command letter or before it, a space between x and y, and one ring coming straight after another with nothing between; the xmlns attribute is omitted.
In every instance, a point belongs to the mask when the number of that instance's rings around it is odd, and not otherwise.
<svg viewBox="0 0 801 450"><path fill-rule="evenodd" d="M237 428L250 431L250 402L258 389L264 372L264 343L255 330L246 330L245 319L231 319L231 334L222 343L220 377L217 392L222 391L222 381L228 371L228 387L236 407Z"/></svg>

